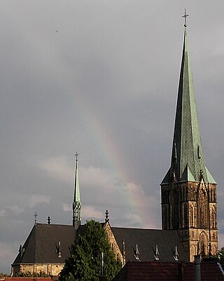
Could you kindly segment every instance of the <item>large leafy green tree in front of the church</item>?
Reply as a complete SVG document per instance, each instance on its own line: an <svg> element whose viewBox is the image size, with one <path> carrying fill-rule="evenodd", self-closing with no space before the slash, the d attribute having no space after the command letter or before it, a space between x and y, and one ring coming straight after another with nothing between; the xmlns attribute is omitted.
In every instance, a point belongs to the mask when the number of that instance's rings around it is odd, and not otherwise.
<svg viewBox="0 0 224 281"><path fill-rule="evenodd" d="M112 280L122 267L106 240L106 231L97 221L88 221L78 240L71 245L71 256L66 259L60 281L98 281L101 273L100 254L104 253L104 275Z"/></svg>

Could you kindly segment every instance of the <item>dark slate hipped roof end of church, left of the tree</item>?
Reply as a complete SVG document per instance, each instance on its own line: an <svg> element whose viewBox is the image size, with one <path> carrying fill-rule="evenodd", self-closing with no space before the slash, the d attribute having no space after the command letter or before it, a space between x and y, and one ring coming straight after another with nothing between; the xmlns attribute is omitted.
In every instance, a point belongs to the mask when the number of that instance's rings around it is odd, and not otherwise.
<svg viewBox="0 0 224 281"><path fill-rule="evenodd" d="M21 263L64 263L70 256L69 246L74 242L76 230L73 226L36 223L32 228L22 251L13 265ZM62 257L57 253L60 242Z"/></svg>

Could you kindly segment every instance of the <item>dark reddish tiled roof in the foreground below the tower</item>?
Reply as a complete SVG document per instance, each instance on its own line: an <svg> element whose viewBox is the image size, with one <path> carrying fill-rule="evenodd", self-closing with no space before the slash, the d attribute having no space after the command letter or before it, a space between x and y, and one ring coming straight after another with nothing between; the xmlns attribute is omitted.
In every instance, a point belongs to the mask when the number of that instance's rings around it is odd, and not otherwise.
<svg viewBox="0 0 224 281"><path fill-rule="evenodd" d="M193 263L127 262L113 281L195 281ZM202 281L224 280L218 263L201 263Z"/></svg>

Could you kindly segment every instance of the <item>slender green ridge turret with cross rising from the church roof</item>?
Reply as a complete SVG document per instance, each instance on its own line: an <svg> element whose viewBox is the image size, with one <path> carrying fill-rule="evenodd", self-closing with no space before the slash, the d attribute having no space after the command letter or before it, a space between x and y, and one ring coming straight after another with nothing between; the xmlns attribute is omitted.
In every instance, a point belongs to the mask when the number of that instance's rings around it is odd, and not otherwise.
<svg viewBox="0 0 224 281"><path fill-rule="evenodd" d="M72 204L73 210L73 227L75 229L80 226L81 223L81 202L80 202L80 190L78 183L78 153L76 152L76 171L74 176L74 198Z"/></svg>

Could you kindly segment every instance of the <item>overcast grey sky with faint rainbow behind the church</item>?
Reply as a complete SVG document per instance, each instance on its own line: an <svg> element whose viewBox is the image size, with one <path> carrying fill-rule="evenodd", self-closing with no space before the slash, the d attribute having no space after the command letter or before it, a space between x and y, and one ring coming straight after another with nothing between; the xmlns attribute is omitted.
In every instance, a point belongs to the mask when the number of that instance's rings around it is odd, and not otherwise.
<svg viewBox="0 0 224 281"><path fill-rule="evenodd" d="M37 221L161 228L184 8L204 157L223 226L223 0L0 1L0 272Z"/></svg>

